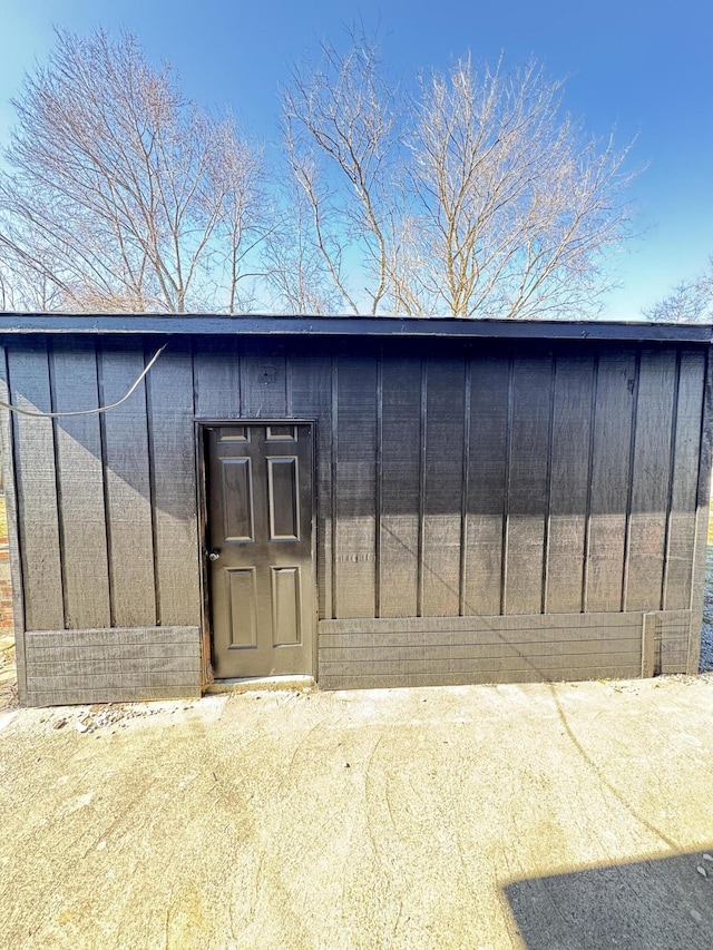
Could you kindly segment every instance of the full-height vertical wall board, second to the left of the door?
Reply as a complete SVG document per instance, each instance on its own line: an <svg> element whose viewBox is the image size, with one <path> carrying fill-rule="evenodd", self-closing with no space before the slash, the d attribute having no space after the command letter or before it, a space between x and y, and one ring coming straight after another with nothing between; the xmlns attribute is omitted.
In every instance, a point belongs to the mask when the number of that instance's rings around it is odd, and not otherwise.
<svg viewBox="0 0 713 950"><path fill-rule="evenodd" d="M143 370L143 349L102 343L102 404L121 399ZM102 413L101 420L113 625L154 626L156 587L145 382L121 405Z"/></svg>

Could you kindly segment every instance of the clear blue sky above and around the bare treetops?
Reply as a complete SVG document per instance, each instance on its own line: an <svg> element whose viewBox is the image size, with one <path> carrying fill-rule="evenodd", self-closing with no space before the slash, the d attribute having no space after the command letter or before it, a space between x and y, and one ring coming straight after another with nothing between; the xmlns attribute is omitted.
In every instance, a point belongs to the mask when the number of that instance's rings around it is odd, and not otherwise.
<svg viewBox="0 0 713 950"><path fill-rule="evenodd" d="M8 99L53 45L52 25L102 25L138 37L149 61L168 60L187 96L229 105L255 138L276 138L279 85L320 39L339 43L360 18L379 28L397 72L448 65L468 49L506 63L530 57L569 76L566 107L587 131L638 136L632 166L647 166L632 197L644 235L616 263L624 286L606 316L633 319L713 254L713 4L710 0L0 0L0 145Z"/></svg>

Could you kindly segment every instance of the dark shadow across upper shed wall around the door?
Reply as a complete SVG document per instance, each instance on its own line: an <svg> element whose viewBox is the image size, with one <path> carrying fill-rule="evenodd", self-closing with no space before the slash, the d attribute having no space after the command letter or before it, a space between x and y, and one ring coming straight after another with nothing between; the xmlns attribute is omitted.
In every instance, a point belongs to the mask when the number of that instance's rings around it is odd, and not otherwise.
<svg viewBox="0 0 713 950"><path fill-rule="evenodd" d="M621 516L629 503L632 463L636 513L660 515L668 505L658 474L671 468L674 409L680 417L676 459L684 469L691 464L697 469L696 386L703 385L703 354L687 354L695 365L681 376L693 398L678 380L676 360L682 358L673 351L645 351L637 363L632 347L623 353L603 351L595 359L563 344L555 358L551 346L533 341L527 354L512 356L508 346L482 343L477 353L458 356L433 340L421 368L422 345L392 341L383 347L378 356L373 346L360 350L354 343L349 355L333 361L332 344L312 340L291 341L289 353L284 342L208 341L193 355L186 342L172 341L119 408L101 419L57 421L60 482L77 471L85 481L100 480L104 464L130 496L148 500L152 479L165 467L174 479L191 484L185 492L162 492L152 503L172 517L191 517L194 415L321 415L321 424L328 427L332 390L339 402L340 488L348 494L345 515L352 518L374 515L379 442L383 471L379 503L383 513L393 516L413 516L421 491L426 516L460 516L466 434L471 445L466 510L485 518L500 518L506 503L510 516L522 518L541 519L546 509L554 518L578 518L587 506L599 519ZM59 411L111 403L126 394L154 353L152 343L144 347L110 340L99 346L88 340L58 339L49 345L45 340L22 341L9 354L12 401L40 411L50 403ZM330 369L332 362L335 370ZM635 398L637 366L642 380ZM635 441L632 456L634 409L645 438ZM36 443L38 452L51 442L48 420L14 422L16 438ZM422 424L428 432L423 459ZM21 467L21 460L16 464ZM695 482L693 469L688 481ZM687 512L681 491L671 499L673 510Z"/></svg>

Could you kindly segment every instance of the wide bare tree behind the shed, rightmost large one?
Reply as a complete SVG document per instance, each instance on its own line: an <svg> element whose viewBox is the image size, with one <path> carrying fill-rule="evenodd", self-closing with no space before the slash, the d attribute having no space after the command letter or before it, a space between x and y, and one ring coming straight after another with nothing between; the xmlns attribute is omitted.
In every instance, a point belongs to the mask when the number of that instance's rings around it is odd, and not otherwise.
<svg viewBox="0 0 713 950"><path fill-rule="evenodd" d="M418 196L409 284L453 316L588 312L602 252L626 234L626 150L580 140L561 82L459 60L421 82L409 136Z"/></svg>

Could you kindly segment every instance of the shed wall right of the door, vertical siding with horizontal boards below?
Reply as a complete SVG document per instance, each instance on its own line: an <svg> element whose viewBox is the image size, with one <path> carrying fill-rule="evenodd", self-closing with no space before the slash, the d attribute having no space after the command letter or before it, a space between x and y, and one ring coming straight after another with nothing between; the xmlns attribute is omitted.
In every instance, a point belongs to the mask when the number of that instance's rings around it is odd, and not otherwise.
<svg viewBox="0 0 713 950"><path fill-rule="evenodd" d="M362 358L333 484L338 520L359 486L335 535L361 547L333 564L322 684L695 672L706 350L482 350Z"/></svg>

